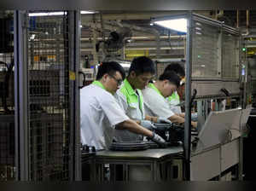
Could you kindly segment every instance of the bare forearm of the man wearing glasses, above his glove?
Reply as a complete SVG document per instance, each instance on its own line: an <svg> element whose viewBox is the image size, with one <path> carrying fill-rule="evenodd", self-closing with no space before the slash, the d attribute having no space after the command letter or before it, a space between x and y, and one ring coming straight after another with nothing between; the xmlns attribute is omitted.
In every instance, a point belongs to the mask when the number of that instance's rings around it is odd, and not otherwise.
<svg viewBox="0 0 256 191"><path fill-rule="evenodd" d="M149 136L149 137L153 136L153 132L151 130L144 128L143 126L137 124L137 122L131 119L125 120L124 122L116 125L116 128L130 130L133 133L141 134L143 136Z"/></svg>

